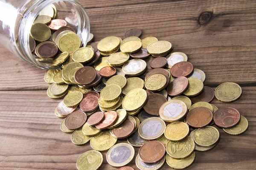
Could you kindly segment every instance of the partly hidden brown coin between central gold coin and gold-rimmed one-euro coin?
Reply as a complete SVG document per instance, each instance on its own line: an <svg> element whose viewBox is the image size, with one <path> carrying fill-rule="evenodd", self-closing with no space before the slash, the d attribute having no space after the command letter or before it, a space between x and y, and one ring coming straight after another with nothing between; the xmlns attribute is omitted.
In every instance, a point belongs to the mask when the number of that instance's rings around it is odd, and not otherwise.
<svg viewBox="0 0 256 170"><path fill-rule="evenodd" d="M162 94L148 94L148 101L143 108L148 114L158 116L159 109L165 102L167 99Z"/></svg>

